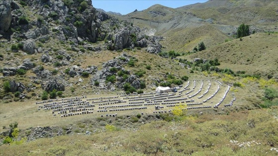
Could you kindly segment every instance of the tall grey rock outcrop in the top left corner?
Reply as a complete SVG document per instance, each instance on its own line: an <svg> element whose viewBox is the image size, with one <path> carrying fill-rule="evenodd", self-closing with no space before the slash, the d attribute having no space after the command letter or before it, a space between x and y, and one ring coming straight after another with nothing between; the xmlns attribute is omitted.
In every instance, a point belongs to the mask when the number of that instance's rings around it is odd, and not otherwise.
<svg viewBox="0 0 278 156"><path fill-rule="evenodd" d="M0 31L6 32L11 23L11 1L1 0L0 1ZM0 33L2 34L2 33Z"/></svg>

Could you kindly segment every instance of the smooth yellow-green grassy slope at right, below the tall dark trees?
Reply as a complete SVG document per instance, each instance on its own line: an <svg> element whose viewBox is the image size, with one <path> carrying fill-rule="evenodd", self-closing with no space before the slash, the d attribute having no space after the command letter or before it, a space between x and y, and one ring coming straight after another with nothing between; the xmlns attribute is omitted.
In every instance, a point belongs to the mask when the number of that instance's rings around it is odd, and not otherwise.
<svg viewBox="0 0 278 156"><path fill-rule="evenodd" d="M278 34L253 34L212 47L208 50L197 52L186 58L214 59L221 62L220 68L229 67L234 71L248 73L277 75L278 70Z"/></svg>

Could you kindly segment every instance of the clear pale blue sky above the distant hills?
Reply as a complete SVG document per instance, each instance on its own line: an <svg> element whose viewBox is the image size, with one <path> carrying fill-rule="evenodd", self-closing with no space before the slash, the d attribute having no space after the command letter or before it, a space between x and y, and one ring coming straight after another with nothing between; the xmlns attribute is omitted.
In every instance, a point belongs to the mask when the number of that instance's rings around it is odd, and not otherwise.
<svg viewBox="0 0 278 156"><path fill-rule="evenodd" d="M177 8L197 2L208 0L92 0L93 7L101 8L105 11L119 12L123 15L147 9L154 4L161 4L167 7Z"/></svg>

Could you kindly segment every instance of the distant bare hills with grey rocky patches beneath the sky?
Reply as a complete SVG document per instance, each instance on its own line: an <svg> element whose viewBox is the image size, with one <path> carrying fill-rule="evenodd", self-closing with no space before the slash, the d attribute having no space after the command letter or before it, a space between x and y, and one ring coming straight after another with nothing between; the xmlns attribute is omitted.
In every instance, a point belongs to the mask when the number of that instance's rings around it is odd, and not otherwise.
<svg viewBox="0 0 278 156"><path fill-rule="evenodd" d="M232 39L242 23L251 32L278 32L277 10L276 0L209 0L179 8L157 4L119 18L163 36L167 50L187 52L201 41L209 48Z"/></svg>

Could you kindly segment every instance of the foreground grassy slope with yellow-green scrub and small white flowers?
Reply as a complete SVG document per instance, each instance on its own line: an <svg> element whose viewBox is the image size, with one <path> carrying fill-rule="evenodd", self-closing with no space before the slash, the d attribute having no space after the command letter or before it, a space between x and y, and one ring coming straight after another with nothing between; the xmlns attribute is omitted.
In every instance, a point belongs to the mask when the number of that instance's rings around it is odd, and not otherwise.
<svg viewBox="0 0 278 156"><path fill-rule="evenodd" d="M0 146L1 156L275 156L278 109L156 121L135 130L70 135ZM89 126L89 125L87 125ZM231 141L233 142L231 142ZM235 143L234 141L237 141ZM240 147L240 144L243 144Z"/></svg>

